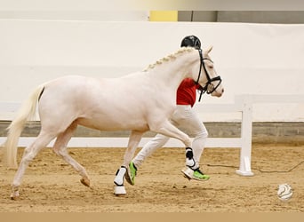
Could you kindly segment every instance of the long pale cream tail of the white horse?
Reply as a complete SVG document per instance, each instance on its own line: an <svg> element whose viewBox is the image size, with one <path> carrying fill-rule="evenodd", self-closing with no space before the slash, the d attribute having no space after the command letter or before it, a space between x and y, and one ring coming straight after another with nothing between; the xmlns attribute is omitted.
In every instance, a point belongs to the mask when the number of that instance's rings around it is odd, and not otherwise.
<svg viewBox="0 0 304 222"><path fill-rule="evenodd" d="M14 120L10 124L7 134L7 139L4 143L4 164L9 168L17 168L17 147L18 140L24 128L24 124L28 119L35 116L37 100L44 90L44 85L38 86L31 92L28 99L26 99Z"/></svg>

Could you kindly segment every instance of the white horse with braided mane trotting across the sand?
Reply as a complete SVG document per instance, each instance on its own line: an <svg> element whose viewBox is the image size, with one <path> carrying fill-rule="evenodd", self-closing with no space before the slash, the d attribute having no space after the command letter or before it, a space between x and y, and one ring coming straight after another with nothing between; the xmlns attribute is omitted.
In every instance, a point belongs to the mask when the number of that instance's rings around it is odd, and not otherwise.
<svg viewBox="0 0 304 222"><path fill-rule="evenodd" d="M223 93L220 76L216 75L208 55L211 50L202 52L183 47L144 71L119 78L68 75L38 86L10 124L4 143L4 163L17 168L18 139L28 117L35 115L38 104L41 131L24 150L12 181L11 199L16 200L20 195L19 187L28 163L55 138L54 153L75 168L84 186L90 186L84 167L67 152L68 141L78 124L100 131L131 131L124 163L118 173L122 178L121 186L125 173L122 169L131 162L145 131L180 139L186 147L191 147L188 135L173 126L169 117L176 106L177 88L187 77L194 79L212 96L220 97Z"/></svg>

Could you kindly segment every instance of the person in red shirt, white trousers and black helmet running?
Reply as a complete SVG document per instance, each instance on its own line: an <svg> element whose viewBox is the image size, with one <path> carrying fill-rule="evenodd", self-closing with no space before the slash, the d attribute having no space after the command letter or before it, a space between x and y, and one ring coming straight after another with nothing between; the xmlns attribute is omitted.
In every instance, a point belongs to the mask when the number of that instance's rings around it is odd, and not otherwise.
<svg viewBox="0 0 304 222"><path fill-rule="evenodd" d="M186 36L180 44L181 47L195 47L201 48L200 40L196 36ZM186 167L181 170L186 178L196 180L207 180L210 177L205 175L199 168L201 155L204 151L204 145L208 137L204 123L200 120L193 106L196 103L196 90L200 85L196 84L193 79L184 79L177 90L176 109L171 117L171 122L182 131L194 137L192 148L186 148ZM157 134L155 138L148 141L148 143L141 148L138 155L136 155L129 164L129 169L126 173L126 180L131 185L135 183L136 172L144 160L156 151L157 148L163 147L170 139L162 134Z"/></svg>

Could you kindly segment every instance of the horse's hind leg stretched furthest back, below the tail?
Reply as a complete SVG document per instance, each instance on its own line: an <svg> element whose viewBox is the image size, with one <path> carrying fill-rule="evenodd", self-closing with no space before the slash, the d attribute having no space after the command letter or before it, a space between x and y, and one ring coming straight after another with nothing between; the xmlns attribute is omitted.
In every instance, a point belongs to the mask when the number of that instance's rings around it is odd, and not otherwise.
<svg viewBox="0 0 304 222"><path fill-rule="evenodd" d="M35 158L42 148L46 147L51 142L53 138L53 135L40 131L36 140L24 150L19 168L12 181L12 200L16 200L19 197L19 186L28 164Z"/></svg>

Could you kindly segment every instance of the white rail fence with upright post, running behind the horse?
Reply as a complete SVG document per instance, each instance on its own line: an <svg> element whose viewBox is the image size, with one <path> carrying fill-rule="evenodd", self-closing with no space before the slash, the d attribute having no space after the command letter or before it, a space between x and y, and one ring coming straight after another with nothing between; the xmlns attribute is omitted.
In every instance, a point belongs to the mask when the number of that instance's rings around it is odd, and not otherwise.
<svg viewBox="0 0 304 222"><path fill-rule="evenodd" d="M235 103L225 104L196 104L199 113L242 113L240 138L209 138L206 147L238 147L240 164L236 173L241 176L253 176L251 169L252 159L252 105L256 103L304 103L304 95L236 95ZM14 113L20 107L16 102L0 102L0 120L4 113ZM5 119L7 120L7 119ZM12 119L10 119L12 120ZM0 137L3 144L6 137ZM27 147L34 137L20 137L19 147ZM139 147L142 147L150 138L142 138ZM72 138L68 147L126 147L128 138ZM47 146L52 147L53 141ZM170 139L165 147L180 147L182 143L177 139Z"/></svg>

